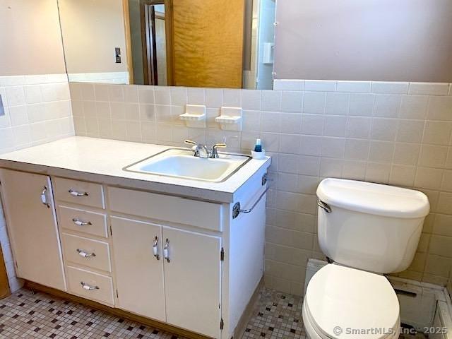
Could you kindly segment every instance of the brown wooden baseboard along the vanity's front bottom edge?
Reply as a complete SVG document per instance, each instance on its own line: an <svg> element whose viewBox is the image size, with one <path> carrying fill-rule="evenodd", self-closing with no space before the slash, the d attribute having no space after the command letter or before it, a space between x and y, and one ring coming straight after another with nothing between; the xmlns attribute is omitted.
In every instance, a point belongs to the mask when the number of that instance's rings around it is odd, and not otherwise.
<svg viewBox="0 0 452 339"><path fill-rule="evenodd" d="M173 333L175 335L182 336L184 338L189 339L211 339L210 337L206 337L205 335L201 335L198 333L194 333L191 331L187 331L184 328L179 328L176 326L169 325L167 323L162 323L161 321L145 318L144 316L138 316L138 314L133 314L128 311L124 311L122 309L115 309L113 307L109 307L104 304L100 304L98 302L93 302L92 300L85 299L82 297L78 297L76 295L71 295L69 293L56 290L52 287L43 286L37 283L32 283L30 281L25 281L25 288L28 288L29 290L35 290L47 293L48 295L54 295L55 297L60 297L62 299L67 299L71 302L77 302L78 304L83 304L85 306L91 307L93 309L98 309L100 311L105 311L109 314L113 314L115 316L119 316L123 319L135 321L136 323L141 323L145 326L157 328L162 331L167 331L169 333ZM239 338L239 337L237 337Z"/></svg>

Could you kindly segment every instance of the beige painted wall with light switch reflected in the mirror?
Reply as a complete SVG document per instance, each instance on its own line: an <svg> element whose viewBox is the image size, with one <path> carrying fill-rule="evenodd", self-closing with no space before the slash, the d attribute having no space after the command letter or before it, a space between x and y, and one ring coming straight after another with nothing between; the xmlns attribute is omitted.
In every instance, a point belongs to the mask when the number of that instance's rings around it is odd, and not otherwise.
<svg viewBox="0 0 452 339"><path fill-rule="evenodd" d="M127 71L122 0L59 0L59 8L68 73Z"/></svg>

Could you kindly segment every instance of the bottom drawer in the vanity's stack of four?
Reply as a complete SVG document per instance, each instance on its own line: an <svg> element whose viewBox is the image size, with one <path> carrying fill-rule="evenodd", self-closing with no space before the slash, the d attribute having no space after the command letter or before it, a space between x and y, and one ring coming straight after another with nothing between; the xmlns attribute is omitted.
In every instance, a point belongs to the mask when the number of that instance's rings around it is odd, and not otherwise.
<svg viewBox="0 0 452 339"><path fill-rule="evenodd" d="M113 280L106 275L66 266L69 292L102 304L114 304Z"/></svg>

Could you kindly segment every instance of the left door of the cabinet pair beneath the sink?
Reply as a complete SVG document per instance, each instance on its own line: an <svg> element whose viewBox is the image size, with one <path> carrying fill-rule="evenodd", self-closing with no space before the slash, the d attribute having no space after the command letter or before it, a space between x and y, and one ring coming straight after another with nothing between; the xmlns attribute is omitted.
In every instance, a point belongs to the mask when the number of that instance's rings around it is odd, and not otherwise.
<svg viewBox="0 0 452 339"><path fill-rule="evenodd" d="M112 217L112 234L119 308L165 321L162 227Z"/></svg>

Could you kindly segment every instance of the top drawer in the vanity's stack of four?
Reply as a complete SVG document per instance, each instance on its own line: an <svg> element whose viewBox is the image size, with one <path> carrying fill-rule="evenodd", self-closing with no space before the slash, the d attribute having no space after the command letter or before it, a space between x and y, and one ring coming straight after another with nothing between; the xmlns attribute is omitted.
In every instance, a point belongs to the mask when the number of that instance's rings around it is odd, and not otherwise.
<svg viewBox="0 0 452 339"><path fill-rule="evenodd" d="M55 198L96 208L105 208L101 184L78 180L55 178Z"/></svg>

